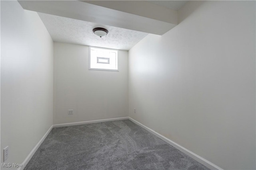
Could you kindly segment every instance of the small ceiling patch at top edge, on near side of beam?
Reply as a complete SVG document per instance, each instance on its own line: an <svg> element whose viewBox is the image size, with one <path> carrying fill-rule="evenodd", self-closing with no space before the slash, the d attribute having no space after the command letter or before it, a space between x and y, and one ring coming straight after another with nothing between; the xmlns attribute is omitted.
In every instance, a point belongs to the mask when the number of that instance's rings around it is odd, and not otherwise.
<svg viewBox="0 0 256 170"><path fill-rule="evenodd" d="M148 2L157 4L159 6L164 6L172 10L179 10L187 0L148 0Z"/></svg>

